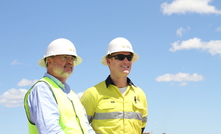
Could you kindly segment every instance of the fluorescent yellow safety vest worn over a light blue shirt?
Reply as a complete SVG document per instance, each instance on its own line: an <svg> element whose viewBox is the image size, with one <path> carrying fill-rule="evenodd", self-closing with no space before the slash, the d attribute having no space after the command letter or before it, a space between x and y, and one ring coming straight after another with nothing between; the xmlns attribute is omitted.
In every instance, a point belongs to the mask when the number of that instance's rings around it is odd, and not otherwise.
<svg viewBox="0 0 221 134"><path fill-rule="evenodd" d="M71 98L69 100L60 87L48 77L44 77L38 82L46 82L50 87L58 104L60 119L59 125L65 134L88 134L86 117L84 115L84 107L82 106L78 96L71 90ZM33 86L32 86L33 88ZM29 134L38 134L37 127L30 120L30 112L28 106L28 95L32 88L26 93L24 98L24 107L27 118L29 120Z"/></svg>

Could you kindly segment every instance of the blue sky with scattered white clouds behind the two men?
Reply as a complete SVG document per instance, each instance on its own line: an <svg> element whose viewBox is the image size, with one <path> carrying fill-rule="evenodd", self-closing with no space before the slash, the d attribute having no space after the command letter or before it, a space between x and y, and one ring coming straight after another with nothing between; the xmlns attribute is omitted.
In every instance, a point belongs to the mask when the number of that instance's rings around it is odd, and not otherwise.
<svg viewBox="0 0 221 134"><path fill-rule="evenodd" d="M108 76L100 59L125 37L140 56L129 78L148 99L145 131L221 133L220 0L4 1L0 16L1 133L28 134L24 94L61 37L83 59L67 81L79 95Z"/></svg>

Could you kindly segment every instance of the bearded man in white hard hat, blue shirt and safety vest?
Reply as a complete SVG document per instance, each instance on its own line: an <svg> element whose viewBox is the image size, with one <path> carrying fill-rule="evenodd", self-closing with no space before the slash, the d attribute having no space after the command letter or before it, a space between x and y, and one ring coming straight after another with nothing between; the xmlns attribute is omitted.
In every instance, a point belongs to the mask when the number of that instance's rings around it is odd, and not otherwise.
<svg viewBox="0 0 221 134"><path fill-rule="evenodd" d="M29 134L95 134L78 96L66 83L81 62L71 41L59 38L48 45L38 62L47 72L24 98Z"/></svg>

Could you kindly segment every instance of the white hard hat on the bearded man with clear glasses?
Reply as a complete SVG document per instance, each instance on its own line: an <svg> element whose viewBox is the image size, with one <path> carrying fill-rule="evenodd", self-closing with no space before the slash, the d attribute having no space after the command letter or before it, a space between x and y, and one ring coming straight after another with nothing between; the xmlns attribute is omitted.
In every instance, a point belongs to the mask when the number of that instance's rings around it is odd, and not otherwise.
<svg viewBox="0 0 221 134"><path fill-rule="evenodd" d="M74 44L68 39L59 38L52 41L46 50L46 54L42 59L38 61L38 64L42 67L46 67L45 58L55 55L73 55L77 58L74 61L74 66L82 62L82 58L77 55Z"/></svg>

